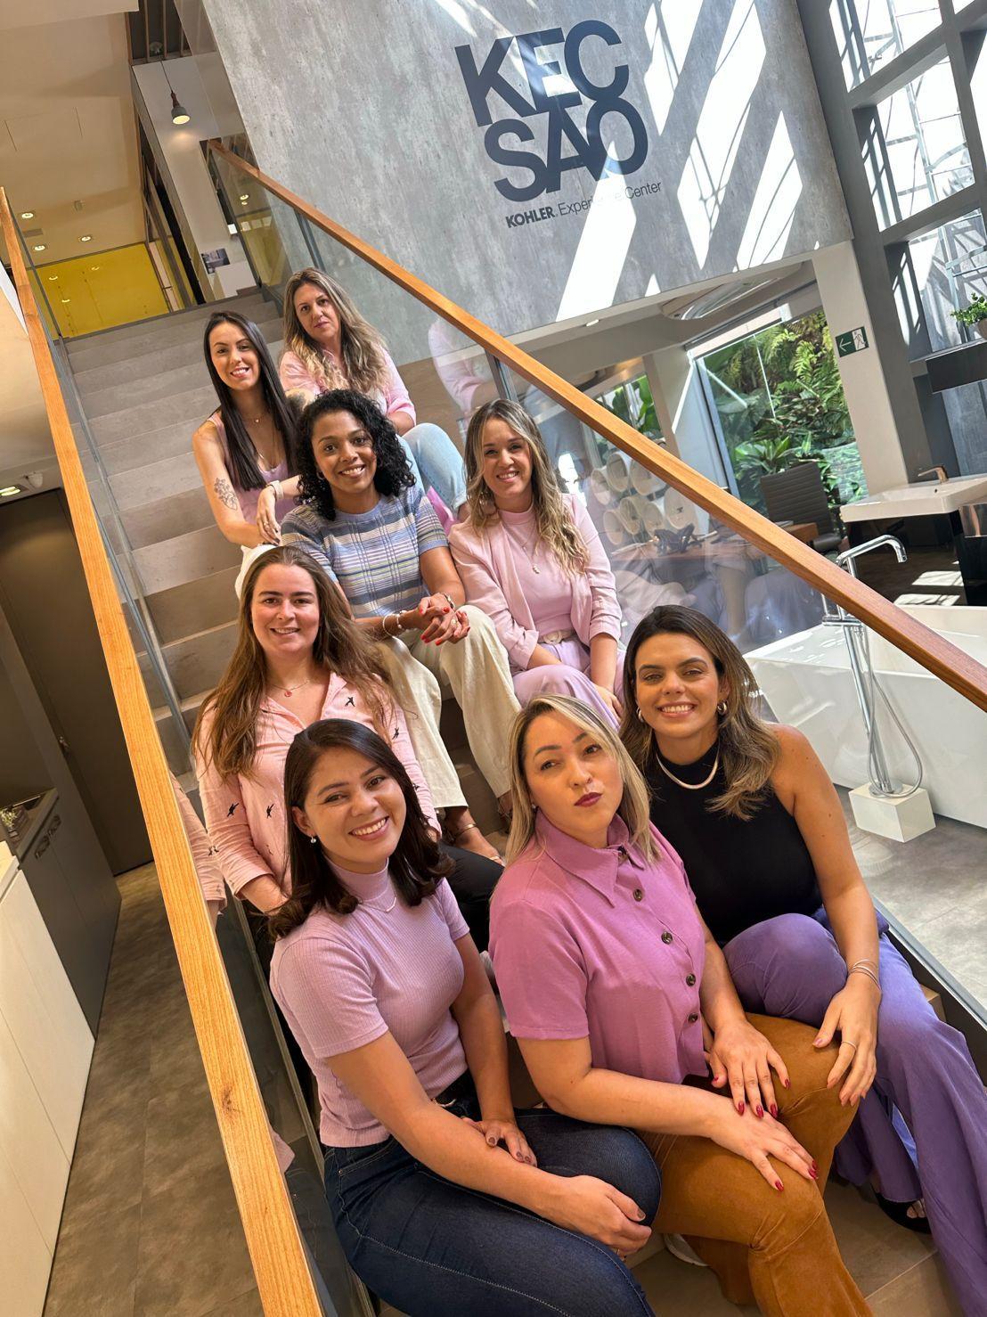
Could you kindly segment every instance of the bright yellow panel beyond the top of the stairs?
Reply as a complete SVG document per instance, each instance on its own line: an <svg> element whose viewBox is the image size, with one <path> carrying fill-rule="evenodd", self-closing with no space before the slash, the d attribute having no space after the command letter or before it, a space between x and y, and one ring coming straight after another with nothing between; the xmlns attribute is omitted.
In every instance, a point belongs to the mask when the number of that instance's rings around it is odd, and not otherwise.
<svg viewBox="0 0 987 1317"><path fill-rule="evenodd" d="M38 278L67 338L162 316L168 309L143 242L53 261L38 266Z"/></svg>

